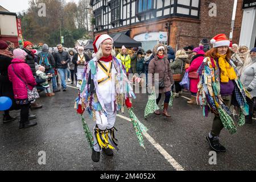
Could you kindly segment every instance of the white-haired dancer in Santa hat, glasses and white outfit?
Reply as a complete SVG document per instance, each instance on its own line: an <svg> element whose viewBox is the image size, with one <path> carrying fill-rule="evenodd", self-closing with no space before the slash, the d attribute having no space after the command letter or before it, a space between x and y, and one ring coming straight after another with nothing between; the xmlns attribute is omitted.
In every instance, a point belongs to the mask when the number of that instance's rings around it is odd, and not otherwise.
<svg viewBox="0 0 256 182"><path fill-rule="evenodd" d="M96 121L94 127L92 160L100 160L101 150L109 156L117 148L114 123L117 111L124 105L131 108L130 97L135 98L125 68L115 57L113 39L106 34L98 35L93 42L96 56L85 65L82 84L77 98L77 113L86 109Z"/></svg>

